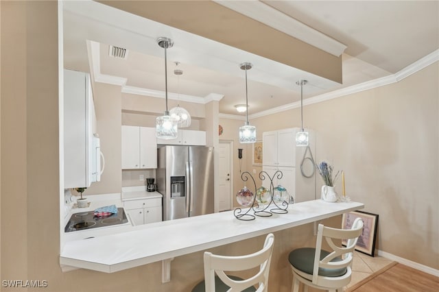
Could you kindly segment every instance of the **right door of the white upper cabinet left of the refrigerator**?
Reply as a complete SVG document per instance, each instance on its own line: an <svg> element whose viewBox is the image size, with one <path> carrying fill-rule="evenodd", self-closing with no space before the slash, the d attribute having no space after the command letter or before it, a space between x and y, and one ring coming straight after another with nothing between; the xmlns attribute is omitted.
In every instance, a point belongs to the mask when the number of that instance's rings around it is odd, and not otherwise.
<svg viewBox="0 0 439 292"><path fill-rule="evenodd" d="M157 168L157 139L154 127L140 127L140 168Z"/></svg>

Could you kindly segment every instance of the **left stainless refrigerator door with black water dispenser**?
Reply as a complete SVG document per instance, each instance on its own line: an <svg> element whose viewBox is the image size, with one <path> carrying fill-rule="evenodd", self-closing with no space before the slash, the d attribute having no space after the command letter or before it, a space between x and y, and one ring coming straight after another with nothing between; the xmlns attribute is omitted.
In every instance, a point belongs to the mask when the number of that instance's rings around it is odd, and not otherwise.
<svg viewBox="0 0 439 292"><path fill-rule="evenodd" d="M189 216L187 146L165 146L158 149L157 184L163 195L163 220Z"/></svg>

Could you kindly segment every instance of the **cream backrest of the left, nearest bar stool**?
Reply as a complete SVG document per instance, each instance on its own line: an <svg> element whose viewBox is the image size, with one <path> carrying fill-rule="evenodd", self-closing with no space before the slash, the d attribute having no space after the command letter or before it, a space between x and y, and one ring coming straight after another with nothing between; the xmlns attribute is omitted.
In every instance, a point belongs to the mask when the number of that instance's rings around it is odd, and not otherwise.
<svg viewBox="0 0 439 292"><path fill-rule="evenodd" d="M262 250L246 256L218 256L211 252L204 252L204 282L206 291L215 291L215 273L230 289L228 291L242 291L259 284L257 291L267 291L268 273L272 259L274 235L265 237ZM244 280L232 280L224 271L244 271L259 266L256 275Z"/></svg>

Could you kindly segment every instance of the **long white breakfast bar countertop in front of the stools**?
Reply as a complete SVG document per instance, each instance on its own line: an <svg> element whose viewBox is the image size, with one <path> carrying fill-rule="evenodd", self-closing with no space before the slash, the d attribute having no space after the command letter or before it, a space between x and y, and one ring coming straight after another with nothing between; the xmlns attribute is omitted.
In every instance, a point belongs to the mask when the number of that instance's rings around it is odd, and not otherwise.
<svg viewBox="0 0 439 292"><path fill-rule="evenodd" d="M112 273L361 208L364 204L357 202L329 203L317 199L292 204L287 214L252 221L238 220L233 211L227 211L133 226L127 232L67 242L60 254L60 264Z"/></svg>

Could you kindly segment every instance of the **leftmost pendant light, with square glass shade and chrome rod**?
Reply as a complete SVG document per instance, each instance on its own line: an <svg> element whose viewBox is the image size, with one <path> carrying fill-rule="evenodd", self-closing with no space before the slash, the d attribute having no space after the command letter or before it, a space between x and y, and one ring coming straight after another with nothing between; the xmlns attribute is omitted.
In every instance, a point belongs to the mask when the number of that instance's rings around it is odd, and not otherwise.
<svg viewBox="0 0 439 292"><path fill-rule="evenodd" d="M170 38L158 38L157 43L160 47L165 49L165 99L166 99L166 110L162 117L157 117L156 119L156 136L161 139L175 139L178 134L178 123L177 120L169 115L167 110L167 58L166 49L171 48L174 42Z"/></svg>

